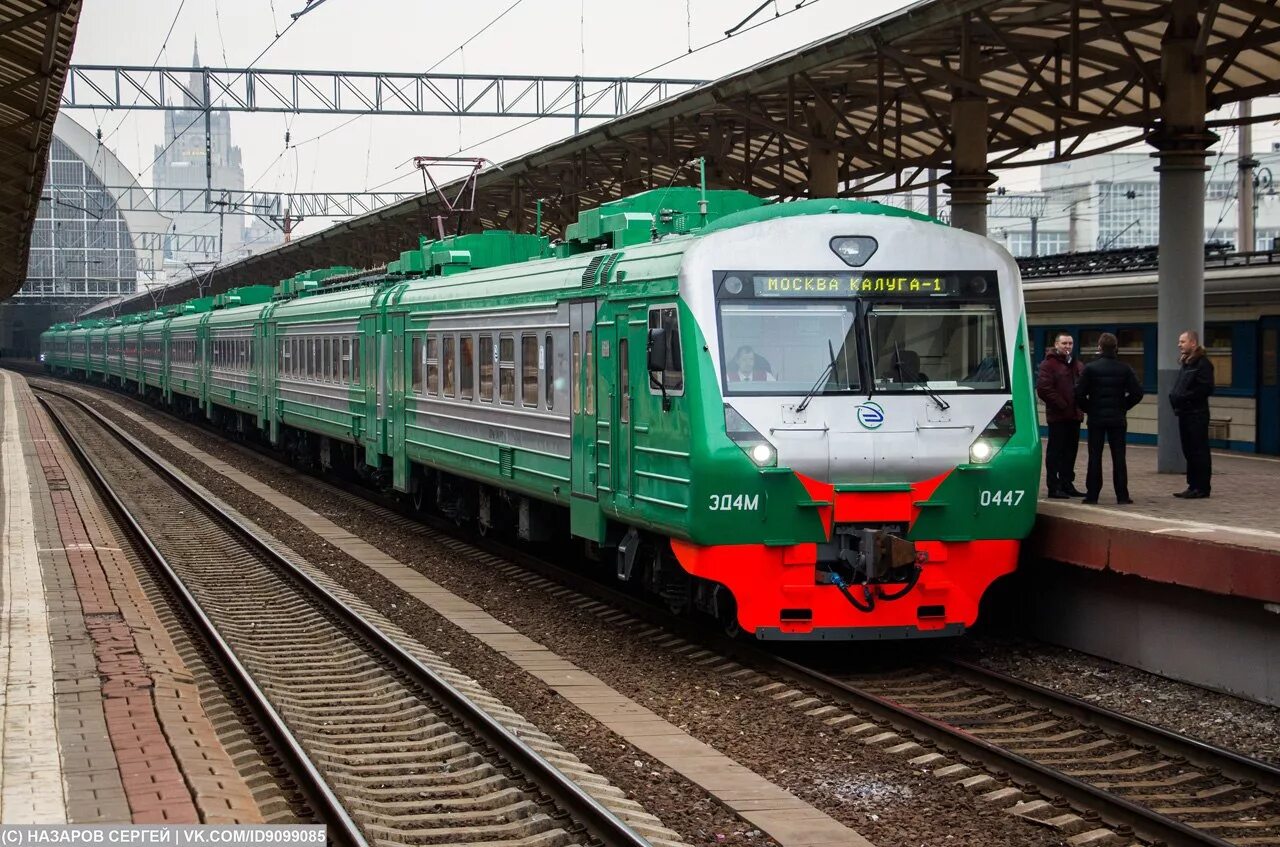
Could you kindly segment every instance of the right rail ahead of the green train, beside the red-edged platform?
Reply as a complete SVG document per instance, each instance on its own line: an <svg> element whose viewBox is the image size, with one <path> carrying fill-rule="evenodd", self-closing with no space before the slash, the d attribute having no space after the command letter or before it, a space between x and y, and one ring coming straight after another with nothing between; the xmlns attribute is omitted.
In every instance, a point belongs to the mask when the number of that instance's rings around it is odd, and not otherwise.
<svg viewBox="0 0 1280 847"><path fill-rule="evenodd" d="M1018 679L970 661L946 659L942 664L950 665L961 677L968 676L975 679L978 685L1021 697L1032 705L1050 711L1097 724L1105 732L1121 733L1140 743L1151 745L1166 755L1181 756L1199 768L1213 768L1233 779L1268 786L1272 789L1280 788L1280 768L1270 763L1244 756L1234 750L1217 747L1199 738L1172 732L1088 700L1080 700L1069 693Z"/></svg>

